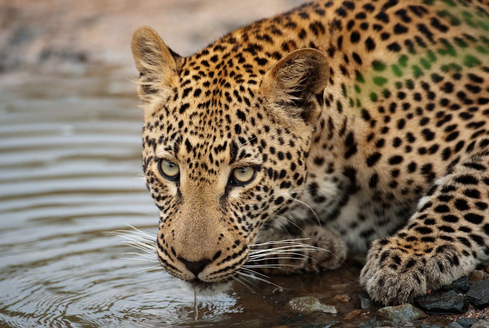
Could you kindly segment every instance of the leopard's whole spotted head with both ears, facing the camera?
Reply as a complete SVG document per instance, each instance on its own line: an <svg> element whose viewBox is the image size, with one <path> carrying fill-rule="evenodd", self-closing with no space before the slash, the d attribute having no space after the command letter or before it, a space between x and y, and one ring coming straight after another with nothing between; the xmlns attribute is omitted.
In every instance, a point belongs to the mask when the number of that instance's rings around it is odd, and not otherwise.
<svg viewBox="0 0 489 328"><path fill-rule="evenodd" d="M304 188L328 63L301 49L242 72L252 56L227 47L181 58L149 27L135 33L132 50L159 261L213 290L236 275L259 229Z"/></svg>

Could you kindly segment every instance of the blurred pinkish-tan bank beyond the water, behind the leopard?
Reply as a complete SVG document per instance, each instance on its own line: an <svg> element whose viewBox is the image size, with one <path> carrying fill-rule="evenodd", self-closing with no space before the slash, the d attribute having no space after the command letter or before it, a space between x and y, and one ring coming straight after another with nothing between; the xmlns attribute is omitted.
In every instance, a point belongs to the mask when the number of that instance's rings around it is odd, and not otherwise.
<svg viewBox="0 0 489 328"><path fill-rule="evenodd" d="M232 29L293 8L301 0L3 0L0 73L84 73L87 65L135 72L130 40L152 26L189 55ZM129 71L130 70L130 71Z"/></svg>

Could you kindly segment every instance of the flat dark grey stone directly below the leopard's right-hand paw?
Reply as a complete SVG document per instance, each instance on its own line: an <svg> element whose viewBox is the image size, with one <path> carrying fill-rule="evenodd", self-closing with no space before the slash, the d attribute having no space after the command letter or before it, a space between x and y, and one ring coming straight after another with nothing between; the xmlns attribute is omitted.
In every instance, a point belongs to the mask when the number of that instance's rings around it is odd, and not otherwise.
<svg viewBox="0 0 489 328"><path fill-rule="evenodd" d="M417 296L414 301L417 307L434 314L465 313L469 308L465 297L454 290Z"/></svg>

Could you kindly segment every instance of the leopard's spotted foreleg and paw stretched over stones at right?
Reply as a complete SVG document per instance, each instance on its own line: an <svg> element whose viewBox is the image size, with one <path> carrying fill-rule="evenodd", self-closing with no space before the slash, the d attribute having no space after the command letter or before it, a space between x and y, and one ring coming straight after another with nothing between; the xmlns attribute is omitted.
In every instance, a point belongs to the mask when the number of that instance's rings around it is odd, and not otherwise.
<svg viewBox="0 0 489 328"><path fill-rule="evenodd" d="M489 155L454 165L419 203L408 224L375 241L360 282L384 304L413 301L469 274L489 254Z"/></svg>

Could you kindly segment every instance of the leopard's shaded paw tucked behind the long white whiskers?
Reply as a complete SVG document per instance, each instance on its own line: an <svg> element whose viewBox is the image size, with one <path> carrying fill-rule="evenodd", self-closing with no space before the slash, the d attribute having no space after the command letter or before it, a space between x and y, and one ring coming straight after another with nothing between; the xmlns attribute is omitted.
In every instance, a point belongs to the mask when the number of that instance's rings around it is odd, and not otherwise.
<svg viewBox="0 0 489 328"><path fill-rule="evenodd" d="M289 275L332 270L343 263L347 247L342 238L314 224L294 230L293 234L281 229L263 230L247 267L265 274Z"/></svg>

